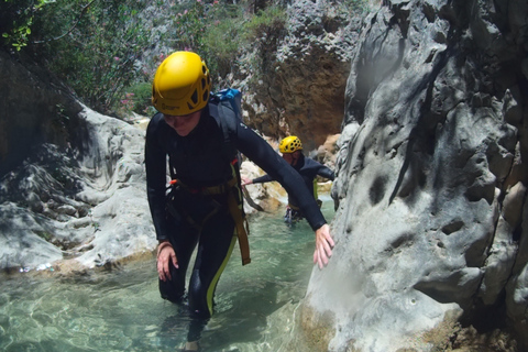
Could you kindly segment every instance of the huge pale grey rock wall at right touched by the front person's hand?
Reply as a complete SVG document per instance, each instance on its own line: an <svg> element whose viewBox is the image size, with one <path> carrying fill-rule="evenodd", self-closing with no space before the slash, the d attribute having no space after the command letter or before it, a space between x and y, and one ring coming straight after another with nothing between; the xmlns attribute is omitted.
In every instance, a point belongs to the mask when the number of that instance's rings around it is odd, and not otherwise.
<svg viewBox="0 0 528 352"><path fill-rule="evenodd" d="M428 351L426 331L497 307L526 345L527 21L526 1L384 1L365 19L337 245L305 302L305 328L331 317L329 350Z"/></svg>

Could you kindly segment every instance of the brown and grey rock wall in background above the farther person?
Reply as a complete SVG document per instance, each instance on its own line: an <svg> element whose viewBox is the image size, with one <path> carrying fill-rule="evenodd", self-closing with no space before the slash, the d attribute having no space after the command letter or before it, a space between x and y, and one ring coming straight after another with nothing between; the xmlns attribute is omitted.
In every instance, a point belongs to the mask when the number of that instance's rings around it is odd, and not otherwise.
<svg viewBox="0 0 528 352"><path fill-rule="evenodd" d="M307 150L339 133L360 26L350 9L343 1L292 1L284 29L256 41L251 61L263 73L248 85L250 125L275 139L296 134Z"/></svg>

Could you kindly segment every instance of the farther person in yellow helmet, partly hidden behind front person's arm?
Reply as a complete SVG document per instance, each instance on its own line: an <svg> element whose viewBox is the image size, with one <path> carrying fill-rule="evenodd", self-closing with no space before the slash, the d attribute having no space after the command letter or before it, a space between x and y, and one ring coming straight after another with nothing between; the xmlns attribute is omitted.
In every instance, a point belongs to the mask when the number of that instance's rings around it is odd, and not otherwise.
<svg viewBox="0 0 528 352"><path fill-rule="evenodd" d="M292 165L302 177L306 186L311 191L311 196L316 199L318 205L321 205L321 201L317 196L317 176L321 176L333 180L336 175L333 172L312 158L305 157L302 154L302 144L300 140L295 135L289 135L280 141L278 145L279 152L283 154L283 158ZM251 184L264 184L275 180L271 175L264 175L254 179L242 177L242 186ZM286 215L284 216L284 221L292 224L293 221L300 220L305 218L299 207L299 201L296 198L295 194L288 193L288 206L286 207Z"/></svg>

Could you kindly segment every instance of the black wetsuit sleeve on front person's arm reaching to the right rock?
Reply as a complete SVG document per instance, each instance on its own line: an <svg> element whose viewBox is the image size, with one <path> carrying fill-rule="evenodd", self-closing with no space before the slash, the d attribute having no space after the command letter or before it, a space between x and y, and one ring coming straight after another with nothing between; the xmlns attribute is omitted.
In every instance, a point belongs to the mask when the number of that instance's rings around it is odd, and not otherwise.
<svg viewBox="0 0 528 352"><path fill-rule="evenodd" d="M288 194L295 195L299 208L314 231L327 223L302 177L264 139L245 124L239 123L234 142L242 154L258 165L273 179L280 183Z"/></svg>

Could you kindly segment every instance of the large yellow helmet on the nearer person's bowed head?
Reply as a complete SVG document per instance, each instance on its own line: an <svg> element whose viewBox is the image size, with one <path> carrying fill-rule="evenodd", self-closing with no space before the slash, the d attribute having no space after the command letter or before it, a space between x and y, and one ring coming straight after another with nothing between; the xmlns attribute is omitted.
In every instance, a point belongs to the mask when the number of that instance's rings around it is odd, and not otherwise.
<svg viewBox="0 0 528 352"><path fill-rule="evenodd" d="M175 52L163 61L152 85L152 105L170 116L204 109L209 101L211 77L196 53Z"/></svg>

